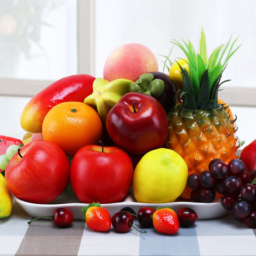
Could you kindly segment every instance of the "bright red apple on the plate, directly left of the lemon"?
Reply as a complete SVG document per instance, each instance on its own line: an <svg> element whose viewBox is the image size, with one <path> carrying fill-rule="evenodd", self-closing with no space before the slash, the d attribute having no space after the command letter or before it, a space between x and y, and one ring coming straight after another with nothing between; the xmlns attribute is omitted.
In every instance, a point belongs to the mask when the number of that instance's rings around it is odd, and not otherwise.
<svg viewBox="0 0 256 256"><path fill-rule="evenodd" d="M84 146L71 162L71 186L83 203L122 201L129 192L132 178L131 158L118 147Z"/></svg>

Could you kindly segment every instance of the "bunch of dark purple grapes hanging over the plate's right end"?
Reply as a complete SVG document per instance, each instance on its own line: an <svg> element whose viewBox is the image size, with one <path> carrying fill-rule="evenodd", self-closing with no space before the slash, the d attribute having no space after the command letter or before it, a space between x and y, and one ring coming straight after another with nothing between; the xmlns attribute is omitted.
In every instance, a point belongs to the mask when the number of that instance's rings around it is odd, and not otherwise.
<svg viewBox="0 0 256 256"><path fill-rule="evenodd" d="M240 159L232 159L226 164L214 158L209 163L209 170L189 175L191 201L212 203L217 192L222 195L224 209L231 211L236 220L256 228L256 186L252 183L255 178L256 170L249 174Z"/></svg>

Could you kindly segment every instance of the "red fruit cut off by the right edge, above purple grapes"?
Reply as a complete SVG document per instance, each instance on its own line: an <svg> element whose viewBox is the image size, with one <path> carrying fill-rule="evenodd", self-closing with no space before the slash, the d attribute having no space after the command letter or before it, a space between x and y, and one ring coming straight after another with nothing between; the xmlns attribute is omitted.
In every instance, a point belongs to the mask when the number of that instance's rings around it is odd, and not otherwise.
<svg viewBox="0 0 256 256"><path fill-rule="evenodd" d="M256 169L256 140L244 147L240 155L247 172L251 173Z"/></svg>

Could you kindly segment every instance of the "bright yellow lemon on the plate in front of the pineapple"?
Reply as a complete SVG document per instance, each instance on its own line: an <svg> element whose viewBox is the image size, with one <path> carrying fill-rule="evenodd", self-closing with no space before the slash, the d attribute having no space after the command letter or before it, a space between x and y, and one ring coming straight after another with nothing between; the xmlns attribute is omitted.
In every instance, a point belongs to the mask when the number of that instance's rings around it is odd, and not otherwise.
<svg viewBox="0 0 256 256"><path fill-rule="evenodd" d="M135 167L133 194L140 203L174 202L187 178L188 166L178 153L167 148L151 150Z"/></svg>

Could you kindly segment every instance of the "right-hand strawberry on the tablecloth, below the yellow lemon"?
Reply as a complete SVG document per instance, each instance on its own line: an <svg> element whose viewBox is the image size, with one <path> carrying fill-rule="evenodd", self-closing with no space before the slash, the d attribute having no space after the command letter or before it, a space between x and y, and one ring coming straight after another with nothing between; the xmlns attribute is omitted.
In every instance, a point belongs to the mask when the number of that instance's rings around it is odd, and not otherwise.
<svg viewBox="0 0 256 256"><path fill-rule="evenodd" d="M164 234L175 234L180 228L177 214L170 208L157 208L153 214L154 228Z"/></svg>

